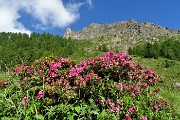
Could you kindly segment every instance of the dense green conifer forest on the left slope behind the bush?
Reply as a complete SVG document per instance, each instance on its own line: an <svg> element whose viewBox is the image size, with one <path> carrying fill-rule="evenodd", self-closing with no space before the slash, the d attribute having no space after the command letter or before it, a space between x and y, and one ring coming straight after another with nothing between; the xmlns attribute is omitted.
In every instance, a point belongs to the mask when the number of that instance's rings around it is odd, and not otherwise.
<svg viewBox="0 0 180 120"><path fill-rule="evenodd" d="M69 57L72 54L84 55L86 41L65 39L49 33L28 34L0 33L0 64L9 68L28 61L33 62L50 55Z"/></svg>

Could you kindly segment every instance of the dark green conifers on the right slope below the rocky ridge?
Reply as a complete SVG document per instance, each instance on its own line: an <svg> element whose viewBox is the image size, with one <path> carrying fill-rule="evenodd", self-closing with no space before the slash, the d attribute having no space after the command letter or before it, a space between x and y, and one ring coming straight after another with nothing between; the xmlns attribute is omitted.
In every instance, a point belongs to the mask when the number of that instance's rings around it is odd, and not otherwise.
<svg viewBox="0 0 180 120"><path fill-rule="evenodd" d="M146 42L129 47L128 53L144 58L163 57L171 60L180 60L180 41L169 38L159 42Z"/></svg>

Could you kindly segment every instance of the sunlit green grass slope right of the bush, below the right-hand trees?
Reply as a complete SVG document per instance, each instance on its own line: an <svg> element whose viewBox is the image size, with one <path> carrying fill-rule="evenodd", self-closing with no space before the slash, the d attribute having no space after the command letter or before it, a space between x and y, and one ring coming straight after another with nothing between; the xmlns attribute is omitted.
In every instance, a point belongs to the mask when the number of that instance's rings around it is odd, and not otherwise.
<svg viewBox="0 0 180 120"><path fill-rule="evenodd" d="M147 68L152 68L161 76L162 83L157 85L160 88L159 95L168 99L177 113L180 113L180 88L175 86L176 82L180 83L180 62L169 60L174 64L165 67L165 58L145 59L133 57L133 59Z"/></svg>

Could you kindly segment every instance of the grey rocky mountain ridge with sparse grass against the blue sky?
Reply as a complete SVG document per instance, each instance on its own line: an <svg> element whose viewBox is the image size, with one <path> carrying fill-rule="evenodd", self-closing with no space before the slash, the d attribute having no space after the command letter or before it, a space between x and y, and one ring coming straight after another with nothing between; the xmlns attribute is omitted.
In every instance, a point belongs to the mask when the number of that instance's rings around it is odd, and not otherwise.
<svg viewBox="0 0 180 120"><path fill-rule="evenodd" d="M64 37L78 40L91 40L96 43L106 44L109 48L121 48L127 51L141 41L158 40L158 36L174 36L180 34L180 30L172 30L159 25L134 19L120 21L112 24L92 23L82 31L73 31L67 28Z"/></svg>

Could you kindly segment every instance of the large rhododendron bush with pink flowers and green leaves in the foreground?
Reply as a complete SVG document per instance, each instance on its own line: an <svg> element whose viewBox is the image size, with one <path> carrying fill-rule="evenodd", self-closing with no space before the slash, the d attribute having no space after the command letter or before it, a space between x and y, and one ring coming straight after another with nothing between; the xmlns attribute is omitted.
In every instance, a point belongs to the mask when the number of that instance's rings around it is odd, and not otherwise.
<svg viewBox="0 0 180 120"><path fill-rule="evenodd" d="M44 58L15 69L28 96L26 109L47 119L165 119L170 103L159 97L157 73L136 65L131 56L109 51L76 64L66 58ZM54 107L53 114L49 114ZM33 113L32 113L33 114ZM35 114L35 113L34 113Z"/></svg>

